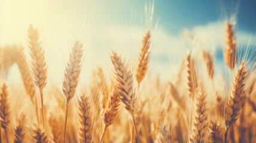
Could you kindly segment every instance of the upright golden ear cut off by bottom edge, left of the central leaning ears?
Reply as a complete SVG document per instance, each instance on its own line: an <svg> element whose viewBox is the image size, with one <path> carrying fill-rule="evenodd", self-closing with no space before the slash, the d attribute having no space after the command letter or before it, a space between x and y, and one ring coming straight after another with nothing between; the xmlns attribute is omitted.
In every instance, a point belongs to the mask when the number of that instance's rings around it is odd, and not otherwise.
<svg viewBox="0 0 256 143"><path fill-rule="evenodd" d="M79 142L92 142L92 111L89 97L81 96L79 104Z"/></svg>

